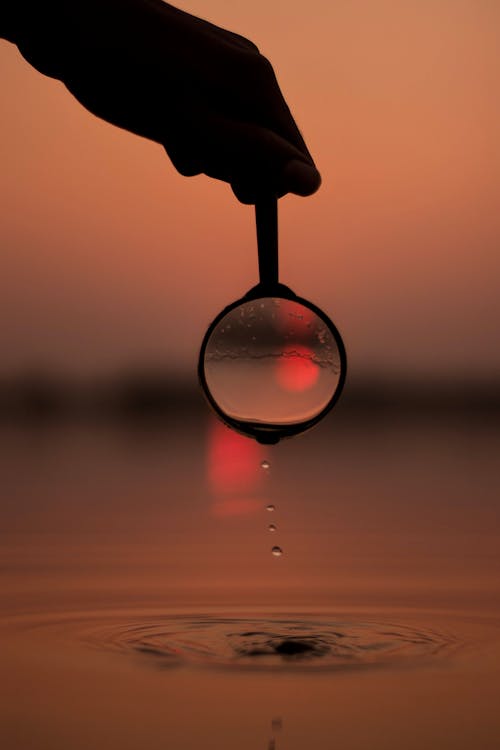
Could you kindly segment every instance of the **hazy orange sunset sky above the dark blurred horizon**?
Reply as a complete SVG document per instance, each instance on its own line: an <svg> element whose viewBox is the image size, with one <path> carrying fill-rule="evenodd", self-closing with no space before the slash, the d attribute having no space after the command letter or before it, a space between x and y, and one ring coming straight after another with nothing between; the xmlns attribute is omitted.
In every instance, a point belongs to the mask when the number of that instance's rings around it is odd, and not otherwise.
<svg viewBox="0 0 500 750"><path fill-rule="evenodd" d="M338 324L351 372L500 374L500 5L178 5L275 66L324 179L281 201L281 278ZM7 42L0 75L0 371L192 369L256 281L252 210Z"/></svg>

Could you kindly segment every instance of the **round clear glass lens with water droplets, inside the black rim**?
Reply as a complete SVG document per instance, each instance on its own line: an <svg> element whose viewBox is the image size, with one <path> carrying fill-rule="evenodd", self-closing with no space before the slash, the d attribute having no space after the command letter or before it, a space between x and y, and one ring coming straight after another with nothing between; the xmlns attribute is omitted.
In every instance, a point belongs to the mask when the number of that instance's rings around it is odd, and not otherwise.
<svg viewBox="0 0 500 750"><path fill-rule="evenodd" d="M212 398L243 423L285 426L313 419L337 390L340 368L325 321L299 302L276 297L233 308L205 348Z"/></svg>

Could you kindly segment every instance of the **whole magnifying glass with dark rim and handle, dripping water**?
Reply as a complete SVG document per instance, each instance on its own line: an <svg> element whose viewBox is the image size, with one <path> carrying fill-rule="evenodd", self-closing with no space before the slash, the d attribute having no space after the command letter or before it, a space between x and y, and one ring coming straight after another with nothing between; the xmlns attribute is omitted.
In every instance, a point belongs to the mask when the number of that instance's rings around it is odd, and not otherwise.
<svg viewBox="0 0 500 750"><path fill-rule="evenodd" d="M260 281L208 327L198 376L226 425L273 444L330 411L347 362L328 316L278 281L277 199L257 203L255 218Z"/></svg>

